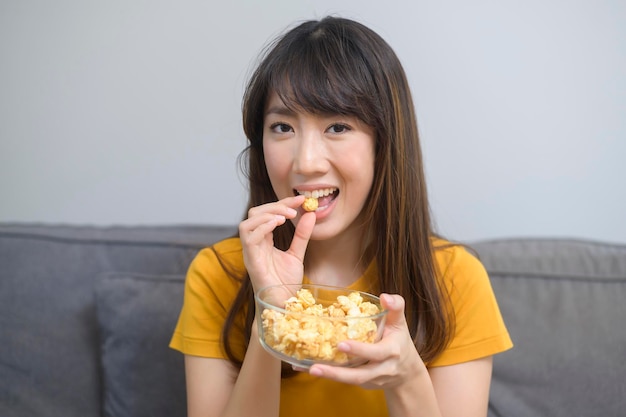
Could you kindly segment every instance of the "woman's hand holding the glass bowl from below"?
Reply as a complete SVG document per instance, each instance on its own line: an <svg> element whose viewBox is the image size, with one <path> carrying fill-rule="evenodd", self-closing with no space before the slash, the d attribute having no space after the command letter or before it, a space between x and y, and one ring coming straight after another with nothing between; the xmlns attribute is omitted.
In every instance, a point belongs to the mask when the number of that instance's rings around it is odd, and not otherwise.
<svg viewBox="0 0 626 417"><path fill-rule="evenodd" d="M338 346L341 351L368 362L354 368L316 364L309 369L311 375L368 389L387 390L410 381L420 372L427 372L407 327L404 298L382 294L380 301L389 311L381 340L377 343L345 341Z"/></svg>

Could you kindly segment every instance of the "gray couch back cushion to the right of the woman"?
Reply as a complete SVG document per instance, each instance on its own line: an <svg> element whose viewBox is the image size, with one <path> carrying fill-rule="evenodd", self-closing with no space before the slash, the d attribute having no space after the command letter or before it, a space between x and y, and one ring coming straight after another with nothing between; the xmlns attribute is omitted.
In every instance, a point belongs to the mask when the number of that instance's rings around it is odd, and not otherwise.
<svg viewBox="0 0 626 417"><path fill-rule="evenodd" d="M494 360L489 415L623 415L626 246L511 239L473 247L515 343Z"/></svg>

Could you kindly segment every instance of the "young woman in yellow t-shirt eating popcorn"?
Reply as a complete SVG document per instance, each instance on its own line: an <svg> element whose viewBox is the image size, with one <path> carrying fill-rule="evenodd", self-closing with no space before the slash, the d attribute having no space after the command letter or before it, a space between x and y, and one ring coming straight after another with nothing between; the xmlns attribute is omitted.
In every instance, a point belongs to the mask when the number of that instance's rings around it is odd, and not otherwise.
<svg viewBox="0 0 626 417"><path fill-rule="evenodd" d="M413 102L376 33L327 17L267 51L243 105L247 217L190 266L171 346L189 415L485 416L492 356L512 344L489 279L436 236ZM304 194L320 196L305 212ZM258 340L254 292L316 283L381 294L382 339L355 368L281 366Z"/></svg>

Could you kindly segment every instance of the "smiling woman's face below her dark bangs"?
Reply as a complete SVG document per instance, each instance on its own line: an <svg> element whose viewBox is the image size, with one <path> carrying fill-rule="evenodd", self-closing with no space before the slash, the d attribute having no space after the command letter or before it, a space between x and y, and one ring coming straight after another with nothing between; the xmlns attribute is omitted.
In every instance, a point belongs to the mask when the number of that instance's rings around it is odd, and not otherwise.
<svg viewBox="0 0 626 417"><path fill-rule="evenodd" d="M374 178L374 136L356 117L293 112L277 94L269 96L263 124L267 172L278 199L319 196L313 240L359 228L355 220Z"/></svg>

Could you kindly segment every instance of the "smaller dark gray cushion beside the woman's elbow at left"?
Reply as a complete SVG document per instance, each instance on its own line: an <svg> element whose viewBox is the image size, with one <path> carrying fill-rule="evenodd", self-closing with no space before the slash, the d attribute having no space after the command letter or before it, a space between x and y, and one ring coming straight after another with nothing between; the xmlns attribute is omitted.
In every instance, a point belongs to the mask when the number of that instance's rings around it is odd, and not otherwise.
<svg viewBox="0 0 626 417"><path fill-rule="evenodd" d="M104 415L186 415L183 356L168 347L184 275L110 273L96 286Z"/></svg>

